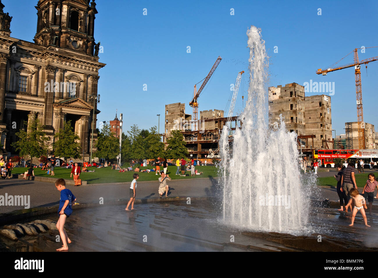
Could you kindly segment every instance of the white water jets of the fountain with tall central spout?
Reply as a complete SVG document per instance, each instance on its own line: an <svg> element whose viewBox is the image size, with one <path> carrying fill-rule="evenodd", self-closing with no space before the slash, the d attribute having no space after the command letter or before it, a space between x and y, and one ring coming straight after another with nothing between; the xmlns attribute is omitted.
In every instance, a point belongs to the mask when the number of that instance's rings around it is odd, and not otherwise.
<svg viewBox="0 0 378 278"><path fill-rule="evenodd" d="M268 126L268 59L261 30L247 31L248 100L229 148L227 127L220 140L223 220L236 227L296 233L307 224L310 188L301 181L296 135L280 123ZM314 179L312 179L314 182Z"/></svg>

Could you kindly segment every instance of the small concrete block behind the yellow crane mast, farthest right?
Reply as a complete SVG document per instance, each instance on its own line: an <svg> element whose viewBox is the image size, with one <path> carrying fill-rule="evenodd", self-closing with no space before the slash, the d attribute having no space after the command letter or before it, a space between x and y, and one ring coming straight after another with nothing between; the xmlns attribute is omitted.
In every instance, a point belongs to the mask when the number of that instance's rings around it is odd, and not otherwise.
<svg viewBox="0 0 378 278"><path fill-rule="evenodd" d="M375 129L373 124L365 123L364 128L365 149L376 149ZM346 148L352 150L359 149L358 143L358 122L345 123Z"/></svg>

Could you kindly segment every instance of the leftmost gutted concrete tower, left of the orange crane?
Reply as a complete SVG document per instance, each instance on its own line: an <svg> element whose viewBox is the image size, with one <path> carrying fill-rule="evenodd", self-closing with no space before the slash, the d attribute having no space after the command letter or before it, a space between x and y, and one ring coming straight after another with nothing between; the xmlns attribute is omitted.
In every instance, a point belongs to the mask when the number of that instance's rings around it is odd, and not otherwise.
<svg viewBox="0 0 378 278"><path fill-rule="evenodd" d="M189 121L192 120L191 114L185 113L185 103L172 103L165 106L165 124L163 142L166 143L170 137L171 130L179 129L189 131L192 129Z"/></svg>

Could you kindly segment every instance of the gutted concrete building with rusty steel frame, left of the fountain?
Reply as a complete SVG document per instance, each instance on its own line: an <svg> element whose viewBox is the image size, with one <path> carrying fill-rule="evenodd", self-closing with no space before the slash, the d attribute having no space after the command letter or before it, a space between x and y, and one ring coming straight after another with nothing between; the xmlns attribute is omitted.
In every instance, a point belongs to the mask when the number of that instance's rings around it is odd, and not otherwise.
<svg viewBox="0 0 378 278"><path fill-rule="evenodd" d="M184 103L167 104L165 107L163 142L166 146L167 138L170 137L171 131L180 130L191 157L205 158L210 149L213 151L218 149L219 133L227 121L227 118L224 118L223 110L200 111L198 130L192 130L194 121L192 121L192 115L185 113ZM237 116L232 117L231 121L235 122L232 123L232 126L240 127L240 121L237 121ZM235 130L235 127L231 129Z"/></svg>

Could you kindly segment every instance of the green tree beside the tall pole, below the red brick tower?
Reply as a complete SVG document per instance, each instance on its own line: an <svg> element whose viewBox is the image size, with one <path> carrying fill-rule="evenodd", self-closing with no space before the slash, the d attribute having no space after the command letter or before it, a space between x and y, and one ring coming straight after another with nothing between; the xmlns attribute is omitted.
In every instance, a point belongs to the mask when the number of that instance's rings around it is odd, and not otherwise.
<svg viewBox="0 0 378 278"><path fill-rule="evenodd" d="M115 159L119 154L119 139L110 132L110 125L105 123L104 128L99 132L96 148L96 157Z"/></svg>

